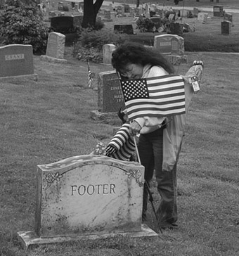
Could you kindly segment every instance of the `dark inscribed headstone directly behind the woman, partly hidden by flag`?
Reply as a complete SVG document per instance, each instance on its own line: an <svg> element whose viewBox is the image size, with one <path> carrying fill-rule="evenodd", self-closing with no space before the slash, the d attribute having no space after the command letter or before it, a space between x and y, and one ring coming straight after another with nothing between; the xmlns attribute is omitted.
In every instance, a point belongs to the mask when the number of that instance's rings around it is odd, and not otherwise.
<svg viewBox="0 0 239 256"><path fill-rule="evenodd" d="M117 112L124 104L120 80L115 71L98 73L98 110L103 113Z"/></svg>

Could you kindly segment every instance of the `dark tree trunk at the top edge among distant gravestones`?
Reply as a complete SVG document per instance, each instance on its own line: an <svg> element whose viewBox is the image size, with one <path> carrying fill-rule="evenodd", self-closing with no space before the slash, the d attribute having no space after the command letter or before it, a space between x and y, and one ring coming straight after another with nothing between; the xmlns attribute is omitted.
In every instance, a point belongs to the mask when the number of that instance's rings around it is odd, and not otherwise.
<svg viewBox="0 0 239 256"><path fill-rule="evenodd" d="M82 27L94 27L96 25L96 15L100 10L104 0L84 0L84 16Z"/></svg>

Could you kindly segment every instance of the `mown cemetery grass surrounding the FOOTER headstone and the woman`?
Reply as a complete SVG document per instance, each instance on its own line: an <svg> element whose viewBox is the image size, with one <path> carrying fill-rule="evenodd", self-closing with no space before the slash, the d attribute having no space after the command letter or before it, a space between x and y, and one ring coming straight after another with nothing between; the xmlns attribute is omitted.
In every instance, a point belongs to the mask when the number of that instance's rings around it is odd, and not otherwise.
<svg viewBox="0 0 239 256"><path fill-rule="evenodd" d="M160 233L149 204L148 226L157 238L118 236L22 250L16 233L34 230L37 165L88 154L99 141L108 143L120 125L116 114L91 119L97 81L89 88L86 63L67 51L67 64L34 56L38 82L0 82L0 255L238 255L238 55L224 53L188 53L188 64L175 66L184 74L193 60L205 62L179 158L178 230ZM110 65L91 63L96 74L107 70ZM155 181L153 191L157 208Z"/></svg>

